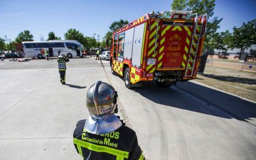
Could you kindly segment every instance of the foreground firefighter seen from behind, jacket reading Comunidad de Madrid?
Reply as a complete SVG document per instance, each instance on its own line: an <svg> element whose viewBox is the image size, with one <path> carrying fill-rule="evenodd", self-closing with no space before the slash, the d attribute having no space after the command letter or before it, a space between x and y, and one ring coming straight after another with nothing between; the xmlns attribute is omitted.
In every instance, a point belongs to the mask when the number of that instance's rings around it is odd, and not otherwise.
<svg viewBox="0 0 256 160"><path fill-rule="evenodd" d="M86 95L90 116L74 130L74 146L84 159L145 159L135 131L114 114L118 112L117 91L97 81Z"/></svg>

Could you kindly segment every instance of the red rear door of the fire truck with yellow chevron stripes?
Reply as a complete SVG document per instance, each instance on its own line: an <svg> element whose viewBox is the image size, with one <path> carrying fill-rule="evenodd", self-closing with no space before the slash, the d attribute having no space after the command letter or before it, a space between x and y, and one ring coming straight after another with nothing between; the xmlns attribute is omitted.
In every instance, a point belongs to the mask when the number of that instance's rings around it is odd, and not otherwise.
<svg viewBox="0 0 256 160"><path fill-rule="evenodd" d="M192 28L193 21L162 21L158 69L185 69L189 55Z"/></svg>

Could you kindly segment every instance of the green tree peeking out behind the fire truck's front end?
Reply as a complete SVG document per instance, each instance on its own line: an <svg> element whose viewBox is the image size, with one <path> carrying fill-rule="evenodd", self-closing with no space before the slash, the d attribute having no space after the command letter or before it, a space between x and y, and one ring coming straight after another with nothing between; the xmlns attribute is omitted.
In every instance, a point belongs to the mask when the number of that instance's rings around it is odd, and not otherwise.
<svg viewBox="0 0 256 160"><path fill-rule="evenodd" d="M111 45L111 37L112 37L112 34L115 30L117 30L118 28L121 28L123 26L125 26L125 24L128 24L129 22L127 20L119 20L119 21L114 21L113 23L110 24L109 26L109 30L108 32L106 33L106 35L104 36L104 39L106 41L108 41L108 46Z"/></svg>

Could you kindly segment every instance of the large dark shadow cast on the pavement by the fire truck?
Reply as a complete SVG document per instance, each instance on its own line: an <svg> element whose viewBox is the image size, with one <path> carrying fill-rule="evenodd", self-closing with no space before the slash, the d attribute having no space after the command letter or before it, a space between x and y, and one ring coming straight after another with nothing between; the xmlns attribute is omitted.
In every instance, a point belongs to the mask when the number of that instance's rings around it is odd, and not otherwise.
<svg viewBox="0 0 256 160"><path fill-rule="evenodd" d="M173 87L161 88L157 87L155 83L146 83L143 84L142 88L135 88L134 91L158 104L222 118L249 121L253 125L256 125L256 103L192 82L179 82L175 87L203 100L206 102L206 106L216 106L229 114L205 107L205 105L196 102L192 97L177 92L177 89ZM254 120L252 120L252 118L254 118Z"/></svg>

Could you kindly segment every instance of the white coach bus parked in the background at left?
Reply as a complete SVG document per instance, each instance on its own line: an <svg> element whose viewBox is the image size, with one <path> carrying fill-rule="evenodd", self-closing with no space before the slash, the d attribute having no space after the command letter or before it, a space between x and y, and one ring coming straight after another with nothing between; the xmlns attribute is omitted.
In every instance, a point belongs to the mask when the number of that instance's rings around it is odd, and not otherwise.
<svg viewBox="0 0 256 160"><path fill-rule="evenodd" d="M50 41L26 41L22 42L26 57L45 58L45 50L50 57L58 57L61 51L68 58L82 56L84 46L75 40L50 40Z"/></svg>

